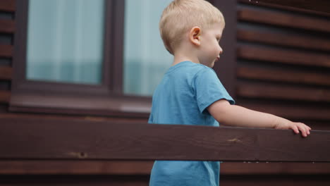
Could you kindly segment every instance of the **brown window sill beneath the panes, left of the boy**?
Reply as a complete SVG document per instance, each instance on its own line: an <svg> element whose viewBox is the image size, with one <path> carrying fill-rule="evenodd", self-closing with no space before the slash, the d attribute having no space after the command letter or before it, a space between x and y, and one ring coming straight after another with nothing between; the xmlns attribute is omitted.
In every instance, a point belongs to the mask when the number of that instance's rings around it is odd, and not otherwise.
<svg viewBox="0 0 330 186"><path fill-rule="evenodd" d="M151 105L149 97L18 93L11 95L9 111L148 118Z"/></svg>

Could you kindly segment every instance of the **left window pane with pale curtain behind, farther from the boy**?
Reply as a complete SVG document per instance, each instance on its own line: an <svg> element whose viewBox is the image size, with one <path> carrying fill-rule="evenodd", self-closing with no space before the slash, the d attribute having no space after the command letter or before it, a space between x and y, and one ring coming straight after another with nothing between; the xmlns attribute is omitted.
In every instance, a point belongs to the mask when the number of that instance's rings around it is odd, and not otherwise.
<svg viewBox="0 0 330 186"><path fill-rule="evenodd" d="M27 79L102 83L104 0L30 0Z"/></svg>

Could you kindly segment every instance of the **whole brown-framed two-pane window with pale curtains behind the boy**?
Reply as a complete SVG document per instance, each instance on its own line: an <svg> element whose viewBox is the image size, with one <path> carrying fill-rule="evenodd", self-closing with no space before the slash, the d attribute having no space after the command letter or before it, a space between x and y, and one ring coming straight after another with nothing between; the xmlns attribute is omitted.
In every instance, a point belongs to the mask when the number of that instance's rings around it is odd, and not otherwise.
<svg viewBox="0 0 330 186"><path fill-rule="evenodd" d="M147 118L173 60L158 31L170 2L17 1L9 109Z"/></svg>

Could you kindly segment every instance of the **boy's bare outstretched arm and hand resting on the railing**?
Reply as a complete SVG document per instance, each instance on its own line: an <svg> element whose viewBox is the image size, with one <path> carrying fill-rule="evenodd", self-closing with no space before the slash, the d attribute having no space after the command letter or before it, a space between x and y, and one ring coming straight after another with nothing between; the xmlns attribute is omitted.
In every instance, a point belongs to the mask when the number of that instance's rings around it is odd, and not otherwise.
<svg viewBox="0 0 330 186"><path fill-rule="evenodd" d="M311 128L269 113L252 111L242 106L231 105L226 99L215 101L207 111L221 124L247 128L292 129L303 137L310 135Z"/></svg>

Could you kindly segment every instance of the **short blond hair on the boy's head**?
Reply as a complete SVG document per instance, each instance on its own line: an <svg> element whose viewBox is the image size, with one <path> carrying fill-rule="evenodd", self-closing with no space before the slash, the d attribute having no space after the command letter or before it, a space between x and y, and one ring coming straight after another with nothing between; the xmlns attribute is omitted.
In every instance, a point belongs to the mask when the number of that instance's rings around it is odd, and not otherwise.
<svg viewBox="0 0 330 186"><path fill-rule="evenodd" d="M161 15L159 32L166 49L174 54L175 47L191 28L197 26L205 29L221 22L224 23L221 11L207 1L174 0Z"/></svg>

